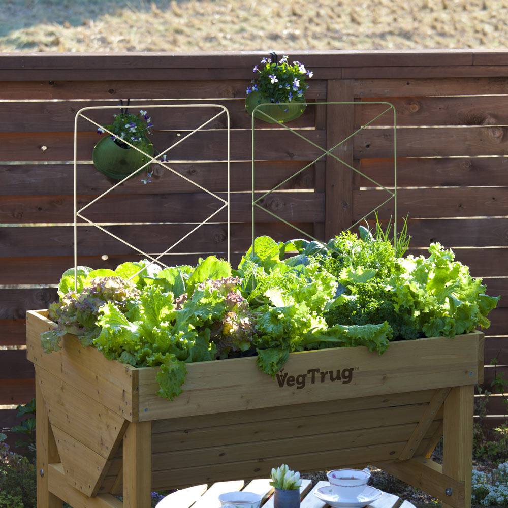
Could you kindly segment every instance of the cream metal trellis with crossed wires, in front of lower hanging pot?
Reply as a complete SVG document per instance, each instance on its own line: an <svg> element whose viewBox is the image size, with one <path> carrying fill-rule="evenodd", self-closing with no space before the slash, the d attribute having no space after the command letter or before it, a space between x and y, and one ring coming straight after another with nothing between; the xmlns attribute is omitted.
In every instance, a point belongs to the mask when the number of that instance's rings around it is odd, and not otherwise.
<svg viewBox="0 0 508 508"><path fill-rule="evenodd" d="M125 108L125 106L123 106L123 107ZM157 261L161 265L163 265L163 266L168 268L168 265L166 265L165 263L163 263L163 262L161 262L159 260L163 256L165 256L168 252L170 252L173 248L175 248L185 238L187 238L188 236L192 235L196 230L198 230L204 224L208 223L208 221L210 221L210 219L212 217L217 215L217 213L219 213L221 210L226 208L226 212L227 212L227 260L230 261L230 253L231 253L231 238L230 238L231 237L231 234L230 234L231 233L231 217L230 217L230 115L229 115L229 110L225 106L223 106L221 104L199 104L199 103L197 103L197 104L159 104L159 105L147 105L147 104L139 104L139 105L135 105L134 104L133 105L133 104L130 104L129 105L129 108L134 108L134 107L143 107L146 110L152 110L154 108L219 108L220 111L217 114L215 114L214 116L212 116L211 118L209 118L206 122L204 122L198 128L194 129L193 131L191 131L188 134L186 134L185 136L183 136L181 139L179 139L178 141L173 143L171 146L166 148L164 151L158 153L156 156L149 156L146 153L142 152L144 155L147 155L148 158L149 158L149 161L147 163L145 163L143 166L135 169L130 175L128 175L125 178L123 178L123 180L120 180L119 182L117 182L115 185L113 185L108 190L106 190L106 192L104 192L103 194L101 194L97 198L94 198L92 201L87 203L85 206L83 206L79 210L78 210L78 207L77 207L77 139L78 139L78 119L80 117L84 118L85 120L89 121L93 125L96 125L98 128L103 129L109 135L114 136L117 139L120 139L117 135L115 135L114 133L112 133L112 132L108 131L107 129L105 129L103 125L101 125L101 124L97 123L96 121L92 120L91 118L88 118L87 116L85 116L83 114L83 112L90 111L90 110L101 110L101 109L116 109L116 110L118 110L118 109L121 109L122 106L118 106L118 105L116 105L116 106L96 106L96 107L90 106L90 107L82 108L82 109L80 109L76 113L76 116L74 118L74 283L75 283L75 287L76 287L76 284L77 284L77 266L78 266L78 248L77 248L77 226L78 226L77 220L78 220L78 217L80 217L81 219L85 220L91 226L94 226L94 227L98 228L99 230L103 231L104 233L106 233L106 234L112 236L113 238L117 239L121 243L123 243L123 244L125 244L125 245L127 245L127 246L129 246L131 248L133 248L134 250L139 252L141 255L143 255L146 258L151 260L148 263L148 265L146 265L144 268L142 268L141 270L139 270L137 273L135 273L134 275L132 275L130 277L130 278L133 278L136 275L138 275L140 272L142 272L145 268L147 268L148 266L152 265L153 263L155 263ZM190 136L192 136L193 134L195 134L198 131L200 131L201 129L203 129L206 125L208 125L210 122L212 122L213 120L215 120L218 116L220 116L222 114L225 114L226 118L227 118L227 124L226 124L226 136L227 136L227 148L226 148L226 152L227 152L226 153L227 189L226 189L226 198L227 199L221 198L216 193L211 192L211 190L203 187L199 183L191 180L190 178L187 178L186 176L182 175L181 173L179 173L175 169L171 168L171 166L169 166L169 162L170 161L165 161L164 158L163 158L166 155L166 153L168 153L170 150L172 150L175 146L181 144L183 141L185 141ZM134 148L135 150L138 150L138 151L141 152L141 150L138 147L132 145L128 141L125 141L124 139L122 139L121 141L123 143L125 143L125 144L128 144L131 148ZM141 169L143 169L145 167L148 167L152 163L153 164L158 164L158 165L162 166L164 169L166 169L168 171L171 171L172 173L176 174L180 178L183 178L187 182L195 185L199 189L203 190L204 192L206 192L210 196L216 198L218 201L223 203L222 206L220 206L220 208L215 210L212 214L210 214L203 221L201 221L201 223L198 224L195 228L193 228L187 234L182 236L179 240L177 240L175 243L173 243L173 245L169 246L164 252L162 252L161 254L159 254L156 257L151 256L147 252L144 252L142 249L140 249L140 248L130 244L129 242L123 240L122 238L114 235L113 233L111 233L110 231L106 230L105 228L103 228L99 224L95 223L94 221L92 221L89 218L87 218L84 215L82 215L82 212L84 210L86 210L89 206L91 206L93 203L96 203L101 198L103 198L104 196L109 194L118 185L122 184L124 181L128 180L129 178L131 178L131 176L134 173L138 173Z"/></svg>

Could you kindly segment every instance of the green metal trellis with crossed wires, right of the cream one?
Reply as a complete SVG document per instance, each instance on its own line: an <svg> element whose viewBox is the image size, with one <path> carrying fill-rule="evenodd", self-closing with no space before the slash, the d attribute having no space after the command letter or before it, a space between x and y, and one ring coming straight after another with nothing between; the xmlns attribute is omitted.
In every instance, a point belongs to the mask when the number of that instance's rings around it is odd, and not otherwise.
<svg viewBox="0 0 508 508"><path fill-rule="evenodd" d="M284 123L282 123L282 122L276 120L275 118L273 118L272 116L270 116L268 113L264 112L261 109L264 106L263 104L259 104L258 106L256 106L253 109L253 111L252 111L252 127L251 127L251 132L252 132L252 136L251 136L251 142L252 142L252 187L251 187L251 199L252 199L252 212L251 212L252 213L252 219L251 219L252 220L252 246L251 246L251 248L252 248L252 251L254 251L254 239L255 239L254 213L255 213L256 207L264 210L266 213L272 215L276 219L280 220L284 224L287 224L288 226L292 227L293 229L297 230L298 232L302 233L303 235L309 237L310 239L312 239L312 240L314 240L316 242L322 243L320 240L318 240L317 238L314 238L309 233L306 233L305 231L302 231L301 229L297 228L294 224L291 224L290 222L288 222L287 220L283 219L279 215L277 215L277 214L273 213L272 211L264 208L263 206L261 206L259 204L259 201L261 201L263 198L266 198L268 195L270 195L275 190L277 190L280 186L282 186L285 182L291 180L291 178L294 178L296 175L300 174L302 171L304 171L305 169L309 168L310 166L312 166L314 163L316 163L317 161L319 161L322 157L324 157L326 155L329 155L330 157L333 157L336 161L339 161L340 163L342 163L347 168L350 168L351 170L355 171L359 175L363 176L367 180L369 180L372 183L374 183L376 186L381 187L382 189L386 190L386 192L389 194L389 197L385 201L383 201L383 203L380 203L373 210L370 210L367 214L365 214L363 217L358 219L356 221L356 223L353 224L352 226L350 226L349 228L347 228L346 231L351 230L352 228L354 228L362 220L366 219L367 216L370 213L375 212L380 207L382 207L383 205L385 205L386 203L388 203L390 200L393 199L393 201L394 201L393 235L394 235L394 246L396 246L396 242L397 242L397 113L396 113L394 105L389 103L389 102L384 102L384 101L362 101L362 102L357 102L357 101L340 101L340 102L314 102L314 103L306 103L306 106L327 106L327 105L354 105L354 106L362 106L364 104L380 104L380 105L385 105L385 106L388 106L388 107L387 107L387 109L385 111L383 111L382 113L379 113L377 116L375 116L374 118L369 120L365 125L362 125L359 129L354 131L350 136L347 136L342 141L339 141L336 145L332 146L332 148L329 148L328 150L323 148L323 147L321 147L321 146L319 146L319 145L317 145L316 143L314 143L310 139L307 139L305 136L302 136L295 129L291 129L291 127L289 127L288 125L285 125ZM292 105L292 103L280 103L279 104L279 106L291 106L291 105ZM355 167L353 167L351 164L348 164L347 162L343 161L340 157L337 157L337 155L334 155L332 153L332 151L335 150L342 143L345 143L347 140L351 139L355 134L358 134L360 131L364 130L368 125L373 123L379 117L387 114L389 111L393 112L393 191L388 189L384 185L380 184L379 182L376 182L375 180L373 180L369 176L367 176L364 173L362 173L360 170L358 170ZM255 167L255 147L254 147L254 145L255 145L254 144L255 127L254 127L254 122L255 122L256 114L261 114L261 115L266 116L267 119L269 119L271 121L274 121L275 123L278 123L279 125L282 125L284 129L287 129L288 131L292 132L293 134L295 134L299 138L305 140L307 143L310 143L312 146L314 146L316 148L319 148L320 150L323 151L323 153L319 157L316 157L312 162L310 162L309 164L307 164L306 166L304 166L303 168L301 168L297 172L293 173L291 176L286 178L284 181L280 182L278 185L276 185L272 189L268 190L266 193L264 193L262 196L260 196L257 199L255 198L255 172L254 172L254 167Z"/></svg>

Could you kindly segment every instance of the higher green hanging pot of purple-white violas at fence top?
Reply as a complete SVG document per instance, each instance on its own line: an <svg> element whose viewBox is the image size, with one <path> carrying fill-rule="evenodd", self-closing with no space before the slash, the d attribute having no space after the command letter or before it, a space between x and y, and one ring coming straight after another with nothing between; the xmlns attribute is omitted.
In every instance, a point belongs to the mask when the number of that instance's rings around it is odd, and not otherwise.
<svg viewBox="0 0 508 508"><path fill-rule="evenodd" d="M247 113L268 123L298 118L306 106L303 94L309 85L305 79L311 78L312 72L299 61L290 65L287 55L277 61L275 53L271 53L271 57L263 58L261 63L264 67L255 66L253 69L259 76L247 88ZM259 105L262 106L254 111Z"/></svg>

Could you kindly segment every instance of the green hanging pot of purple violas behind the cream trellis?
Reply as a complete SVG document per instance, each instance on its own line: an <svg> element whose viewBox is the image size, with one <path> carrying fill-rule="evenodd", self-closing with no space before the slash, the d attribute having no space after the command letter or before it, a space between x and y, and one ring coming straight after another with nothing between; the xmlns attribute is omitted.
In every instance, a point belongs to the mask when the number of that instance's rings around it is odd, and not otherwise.
<svg viewBox="0 0 508 508"><path fill-rule="evenodd" d="M98 134L107 132L93 148L93 165L98 171L115 180L123 180L126 176L136 175L147 170L149 173L149 156L153 156L153 145L147 137L151 134L153 124L146 111L138 114L121 113L113 115L113 122L97 129Z"/></svg>

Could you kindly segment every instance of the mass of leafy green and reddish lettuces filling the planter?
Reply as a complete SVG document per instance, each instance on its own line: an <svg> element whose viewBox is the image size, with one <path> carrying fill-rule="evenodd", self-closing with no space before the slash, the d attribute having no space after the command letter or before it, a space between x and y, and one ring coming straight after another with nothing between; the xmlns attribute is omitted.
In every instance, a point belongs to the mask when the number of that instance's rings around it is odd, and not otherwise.
<svg viewBox="0 0 508 508"><path fill-rule="evenodd" d="M499 297L487 296L451 250L400 252L365 230L327 244L259 237L237 270L213 256L195 267L77 267L62 276L49 311L58 325L41 342L57 350L73 333L108 359L159 367L157 394L173 400L189 362L257 354L275 378L294 351L364 345L382 354L394 339L489 326Z"/></svg>

